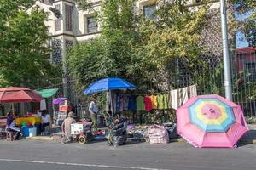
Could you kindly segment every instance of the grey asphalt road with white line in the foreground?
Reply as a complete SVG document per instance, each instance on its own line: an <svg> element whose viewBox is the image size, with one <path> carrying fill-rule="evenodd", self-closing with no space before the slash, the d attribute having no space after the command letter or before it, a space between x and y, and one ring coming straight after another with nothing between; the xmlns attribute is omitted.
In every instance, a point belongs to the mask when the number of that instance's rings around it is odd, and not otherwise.
<svg viewBox="0 0 256 170"><path fill-rule="evenodd" d="M236 149L196 149L190 144L132 144L118 148L106 142L58 144L0 140L0 170L249 170L256 168L256 144Z"/></svg>

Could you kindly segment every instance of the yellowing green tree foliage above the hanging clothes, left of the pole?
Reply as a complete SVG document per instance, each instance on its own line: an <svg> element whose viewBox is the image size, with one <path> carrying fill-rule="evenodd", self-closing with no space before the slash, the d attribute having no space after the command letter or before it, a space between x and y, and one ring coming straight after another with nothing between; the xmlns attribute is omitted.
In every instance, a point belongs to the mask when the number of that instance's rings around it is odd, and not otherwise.
<svg viewBox="0 0 256 170"><path fill-rule="evenodd" d="M188 8L188 2L160 3L155 20L143 20L140 25L144 51L160 67L181 57L197 58L202 52L198 42L207 24L209 7L203 4L200 8Z"/></svg>

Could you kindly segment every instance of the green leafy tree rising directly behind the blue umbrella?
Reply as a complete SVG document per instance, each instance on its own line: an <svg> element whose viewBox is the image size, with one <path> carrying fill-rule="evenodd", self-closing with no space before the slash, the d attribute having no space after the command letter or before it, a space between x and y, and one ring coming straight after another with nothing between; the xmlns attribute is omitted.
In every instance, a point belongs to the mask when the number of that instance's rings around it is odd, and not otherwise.
<svg viewBox="0 0 256 170"><path fill-rule="evenodd" d="M79 1L84 9L87 1ZM102 23L101 37L78 42L68 59L69 70L85 86L102 77L123 77L131 82L148 80L142 55L137 54L137 20L134 0L111 0L102 3L96 14ZM152 70L154 71L154 70Z"/></svg>

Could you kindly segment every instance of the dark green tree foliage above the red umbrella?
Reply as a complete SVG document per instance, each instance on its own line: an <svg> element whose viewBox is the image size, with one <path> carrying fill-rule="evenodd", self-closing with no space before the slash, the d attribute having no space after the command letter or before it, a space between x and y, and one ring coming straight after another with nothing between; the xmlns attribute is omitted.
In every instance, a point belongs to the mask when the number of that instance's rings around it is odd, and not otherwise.
<svg viewBox="0 0 256 170"><path fill-rule="evenodd" d="M38 8L27 14L31 5L30 0L1 0L0 86L32 86L35 80L53 75L44 25L48 16Z"/></svg>

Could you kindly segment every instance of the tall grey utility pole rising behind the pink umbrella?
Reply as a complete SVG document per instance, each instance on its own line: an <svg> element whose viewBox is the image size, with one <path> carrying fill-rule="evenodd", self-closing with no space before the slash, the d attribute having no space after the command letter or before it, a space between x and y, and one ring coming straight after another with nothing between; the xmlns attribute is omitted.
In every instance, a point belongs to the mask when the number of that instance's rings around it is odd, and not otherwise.
<svg viewBox="0 0 256 170"><path fill-rule="evenodd" d="M220 0L221 13L221 27L222 27L222 42L223 42L223 58L224 58L224 87L225 97L232 101L232 82L230 70L230 52L228 42L228 26L227 26L227 12L225 0Z"/></svg>

